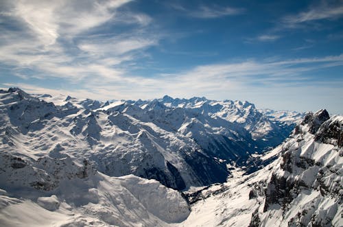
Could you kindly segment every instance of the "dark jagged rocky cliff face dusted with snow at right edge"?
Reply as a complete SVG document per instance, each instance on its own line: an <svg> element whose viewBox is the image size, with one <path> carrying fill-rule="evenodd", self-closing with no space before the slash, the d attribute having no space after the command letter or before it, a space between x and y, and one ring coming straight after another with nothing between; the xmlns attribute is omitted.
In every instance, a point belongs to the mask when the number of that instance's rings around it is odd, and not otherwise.
<svg viewBox="0 0 343 227"><path fill-rule="evenodd" d="M309 112L281 150L265 189L264 213L282 210L289 226L338 226L342 221L343 117ZM276 206L277 205L277 206ZM268 221L268 215L262 215ZM262 222L262 221L261 221Z"/></svg>

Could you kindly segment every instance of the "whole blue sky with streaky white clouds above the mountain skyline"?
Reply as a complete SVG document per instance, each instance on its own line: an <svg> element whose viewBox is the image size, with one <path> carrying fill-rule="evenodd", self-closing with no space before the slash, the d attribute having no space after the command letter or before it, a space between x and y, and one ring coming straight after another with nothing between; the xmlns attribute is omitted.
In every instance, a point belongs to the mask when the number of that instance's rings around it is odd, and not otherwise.
<svg viewBox="0 0 343 227"><path fill-rule="evenodd" d="M343 113L343 1L1 1L0 86Z"/></svg>

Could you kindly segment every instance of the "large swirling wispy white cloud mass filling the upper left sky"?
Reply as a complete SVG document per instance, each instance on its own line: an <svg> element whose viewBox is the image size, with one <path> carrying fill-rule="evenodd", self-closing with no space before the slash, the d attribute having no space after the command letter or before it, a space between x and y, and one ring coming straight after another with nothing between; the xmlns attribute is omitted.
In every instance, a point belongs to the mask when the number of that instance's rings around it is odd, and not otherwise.
<svg viewBox="0 0 343 227"><path fill-rule="evenodd" d="M14 75L48 79L127 81L122 64L143 57L139 51L158 44L147 14L121 10L130 0L3 1L0 17L0 63ZM108 34L102 26L128 25ZM27 69L34 75L25 75ZM25 77L21 76L25 75Z"/></svg>

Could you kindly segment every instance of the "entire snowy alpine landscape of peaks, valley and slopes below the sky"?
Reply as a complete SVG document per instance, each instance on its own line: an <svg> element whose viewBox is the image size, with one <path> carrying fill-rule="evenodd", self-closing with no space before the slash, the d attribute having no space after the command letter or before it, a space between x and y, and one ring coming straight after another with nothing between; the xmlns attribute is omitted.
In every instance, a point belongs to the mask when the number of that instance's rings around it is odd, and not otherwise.
<svg viewBox="0 0 343 227"><path fill-rule="evenodd" d="M0 226L342 226L343 117L303 117L1 90Z"/></svg>

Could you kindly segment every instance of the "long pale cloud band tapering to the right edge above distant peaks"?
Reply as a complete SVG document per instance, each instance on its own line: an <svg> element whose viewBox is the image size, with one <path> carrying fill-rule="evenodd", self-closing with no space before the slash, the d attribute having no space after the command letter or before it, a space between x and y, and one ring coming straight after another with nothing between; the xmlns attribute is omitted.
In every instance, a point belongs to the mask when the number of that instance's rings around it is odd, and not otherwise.
<svg viewBox="0 0 343 227"><path fill-rule="evenodd" d="M164 93L178 97L212 94L213 97L220 98L221 94L225 93L237 92L242 95L241 91L247 88L256 90L261 86L269 89L281 84L282 86L303 84L311 81L304 73L330 67L328 63L342 66L342 55L281 61L248 60L227 64L208 64L185 72L163 75L152 81L149 87L158 87ZM154 90L152 93L163 95L158 89Z"/></svg>

